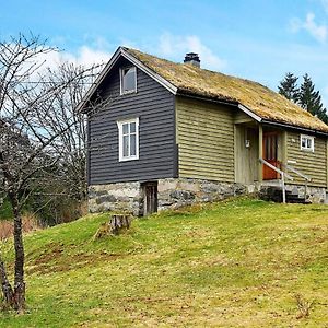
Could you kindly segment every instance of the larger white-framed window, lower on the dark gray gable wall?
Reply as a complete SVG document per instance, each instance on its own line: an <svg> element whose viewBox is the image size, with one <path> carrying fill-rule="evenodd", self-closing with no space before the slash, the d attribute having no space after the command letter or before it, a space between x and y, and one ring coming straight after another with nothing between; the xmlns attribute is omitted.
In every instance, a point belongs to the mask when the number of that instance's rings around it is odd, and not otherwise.
<svg viewBox="0 0 328 328"><path fill-rule="evenodd" d="M119 162L139 160L139 117L117 121Z"/></svg>

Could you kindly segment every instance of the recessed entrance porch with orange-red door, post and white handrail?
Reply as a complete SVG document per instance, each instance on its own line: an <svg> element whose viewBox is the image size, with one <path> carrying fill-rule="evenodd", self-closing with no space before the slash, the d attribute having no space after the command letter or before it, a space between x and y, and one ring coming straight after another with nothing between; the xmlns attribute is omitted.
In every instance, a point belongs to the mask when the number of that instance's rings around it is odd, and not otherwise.
<svg viewBox="0 0 328 328"><path fill-rule="evenodd" d="M304 185L305 201L311 177L291 166L293 163L296 161L288 160L285 130L255 121L235 124L235 183L276 188L285 202L285 181L292 183L297 176Z"/></svg>

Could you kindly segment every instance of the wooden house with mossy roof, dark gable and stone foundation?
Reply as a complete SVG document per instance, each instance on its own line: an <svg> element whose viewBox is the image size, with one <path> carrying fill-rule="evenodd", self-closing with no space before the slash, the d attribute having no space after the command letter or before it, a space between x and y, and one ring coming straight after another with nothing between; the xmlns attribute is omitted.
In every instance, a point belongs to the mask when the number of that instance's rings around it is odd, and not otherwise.
<svg viewBox="0 0 328 328"><path fill-rule="evenodd" d="M328 126L268 87L119 47L79 105L91 211L147 214L270 185L326 201Z"/></svg>

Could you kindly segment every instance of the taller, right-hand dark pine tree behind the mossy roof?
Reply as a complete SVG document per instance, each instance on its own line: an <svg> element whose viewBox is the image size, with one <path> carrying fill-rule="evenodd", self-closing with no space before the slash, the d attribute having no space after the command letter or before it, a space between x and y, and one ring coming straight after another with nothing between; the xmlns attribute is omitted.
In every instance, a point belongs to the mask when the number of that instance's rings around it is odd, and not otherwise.
<svg viewBox="0 0 328 328"><path fill-rule="evenodd" d="M305 110L328 122L328 116L326 108L323 106L320 93L319 91L315 91L315 84L307 73L303 77L303 83L300 87L298 104Z"/></svg>

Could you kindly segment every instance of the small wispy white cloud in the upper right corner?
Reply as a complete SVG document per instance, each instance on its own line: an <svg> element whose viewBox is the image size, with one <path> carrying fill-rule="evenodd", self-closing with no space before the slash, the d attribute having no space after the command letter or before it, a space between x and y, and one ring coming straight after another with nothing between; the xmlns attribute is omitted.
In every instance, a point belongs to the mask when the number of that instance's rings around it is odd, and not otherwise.
<svg viewBox="0 0 328 328"><path fill-rule="evenodd" d="M327 2L328 9L328 0L325 2ZM304 22L302 22L300 19L292 19L290 22L290 27L293 33L296 33L300 30L307 31L315 39L317 39L321 44L325 44L328 37L328 26L325 24L317 24L315 22L315 14L312 12L307 13Z"/></svg>

